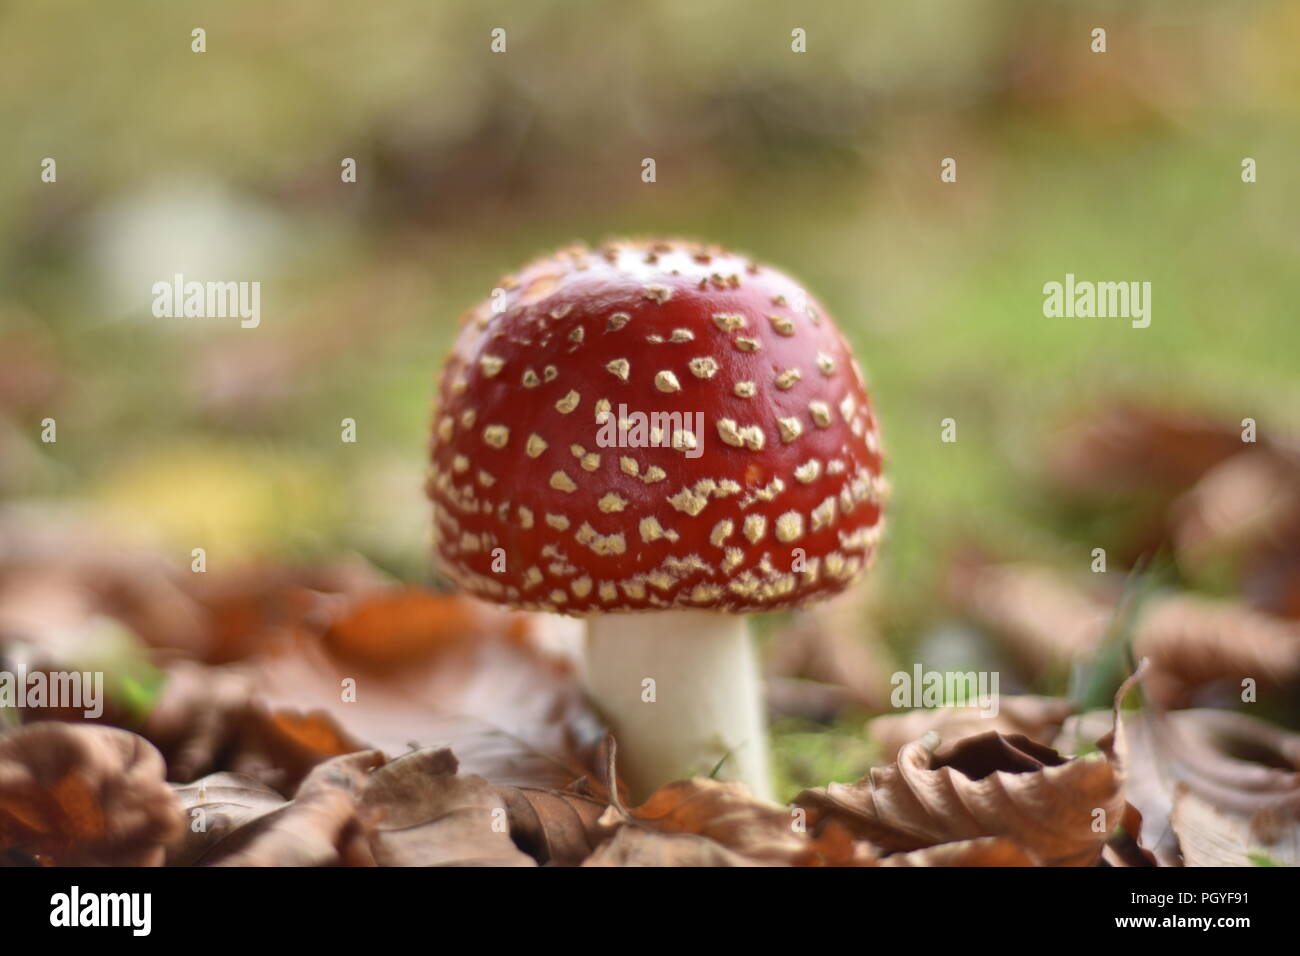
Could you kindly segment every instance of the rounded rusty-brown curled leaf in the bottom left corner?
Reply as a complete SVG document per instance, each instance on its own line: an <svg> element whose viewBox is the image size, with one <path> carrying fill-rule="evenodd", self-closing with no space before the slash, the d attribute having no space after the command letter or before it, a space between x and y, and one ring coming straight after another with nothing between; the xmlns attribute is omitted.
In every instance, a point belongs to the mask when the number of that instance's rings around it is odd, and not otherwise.
<svg viewBox="0 0 1300 956"><path fill-rule="evenodd" d="M179 829L162 757L143 737L55 722L0 736L0 860L157 866Z"/></svg>

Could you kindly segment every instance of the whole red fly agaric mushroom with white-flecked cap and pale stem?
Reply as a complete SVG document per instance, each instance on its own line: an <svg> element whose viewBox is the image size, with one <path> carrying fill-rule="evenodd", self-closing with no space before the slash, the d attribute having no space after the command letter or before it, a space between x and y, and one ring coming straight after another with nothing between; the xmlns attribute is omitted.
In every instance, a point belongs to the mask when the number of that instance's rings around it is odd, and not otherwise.
<svg viewBox="0 0 1300 956"><path fill-rule="evenodd" d="M465 591L588 620L588 688L642 797L771 784L745 614L867 567L885 490L862 373L789 277L716 247L563 250L471 310L428 492Z"/></svg>

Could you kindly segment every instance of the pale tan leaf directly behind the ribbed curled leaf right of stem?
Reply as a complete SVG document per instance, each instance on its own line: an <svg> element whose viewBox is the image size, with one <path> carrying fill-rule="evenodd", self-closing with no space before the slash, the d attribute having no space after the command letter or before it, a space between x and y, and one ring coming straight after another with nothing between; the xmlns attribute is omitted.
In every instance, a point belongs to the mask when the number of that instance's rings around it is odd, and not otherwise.
<svg viewBox="0 0 1300 956"><path fill-rule="evenodd" d="M935 731L944 740L998 731L1022 734L1039 744L1050 744L1070 715L1070 702L1058 697L1002 696L997 714L985 717L979 706L936 708L885 714L867 722L867 735L885 760L894 760L905 744Z"/></svg>

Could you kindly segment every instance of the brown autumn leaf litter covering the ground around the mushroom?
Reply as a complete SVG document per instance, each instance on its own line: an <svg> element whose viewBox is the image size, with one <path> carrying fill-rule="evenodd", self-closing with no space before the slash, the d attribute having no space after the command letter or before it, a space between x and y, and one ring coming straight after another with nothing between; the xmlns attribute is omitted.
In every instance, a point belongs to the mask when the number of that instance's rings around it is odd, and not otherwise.
<svg viewBox="0 0 1300 956"><path fill-rule="evenodd" d="M5 510L0 663L114 676L98 719L4 713L0 864L1296 865L1294 713L1249 708L1300 679L1296 460L1209 419L1101 410L1037 477L1071 515L1140 502L1105 542L1121 575L1000 561L988 541L953 553L946 607L1017 687L1105 687L1105 654L1141 661L1113 708L1009 693L994 715L893 711L875 585L776 620L774 713L874 754L786 804L692 779L629 805L559 619L359 558L186 575L84 519ZM1150 587L1128 614L1097 581L1135 568Z"/></svg>

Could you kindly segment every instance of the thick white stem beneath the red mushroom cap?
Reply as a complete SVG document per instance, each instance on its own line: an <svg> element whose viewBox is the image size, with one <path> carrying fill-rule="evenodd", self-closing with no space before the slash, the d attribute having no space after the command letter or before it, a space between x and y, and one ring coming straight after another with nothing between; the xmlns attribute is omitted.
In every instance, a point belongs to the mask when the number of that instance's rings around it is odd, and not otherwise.
<svg viewBox="0 0 1300 956"><path fill-rule="evenodd" d="M586 669L633 800L671 780L708 777L715 767L718 779L741 780L771 800L763 693L745 618L712 611L594 617Z"/></svg>

